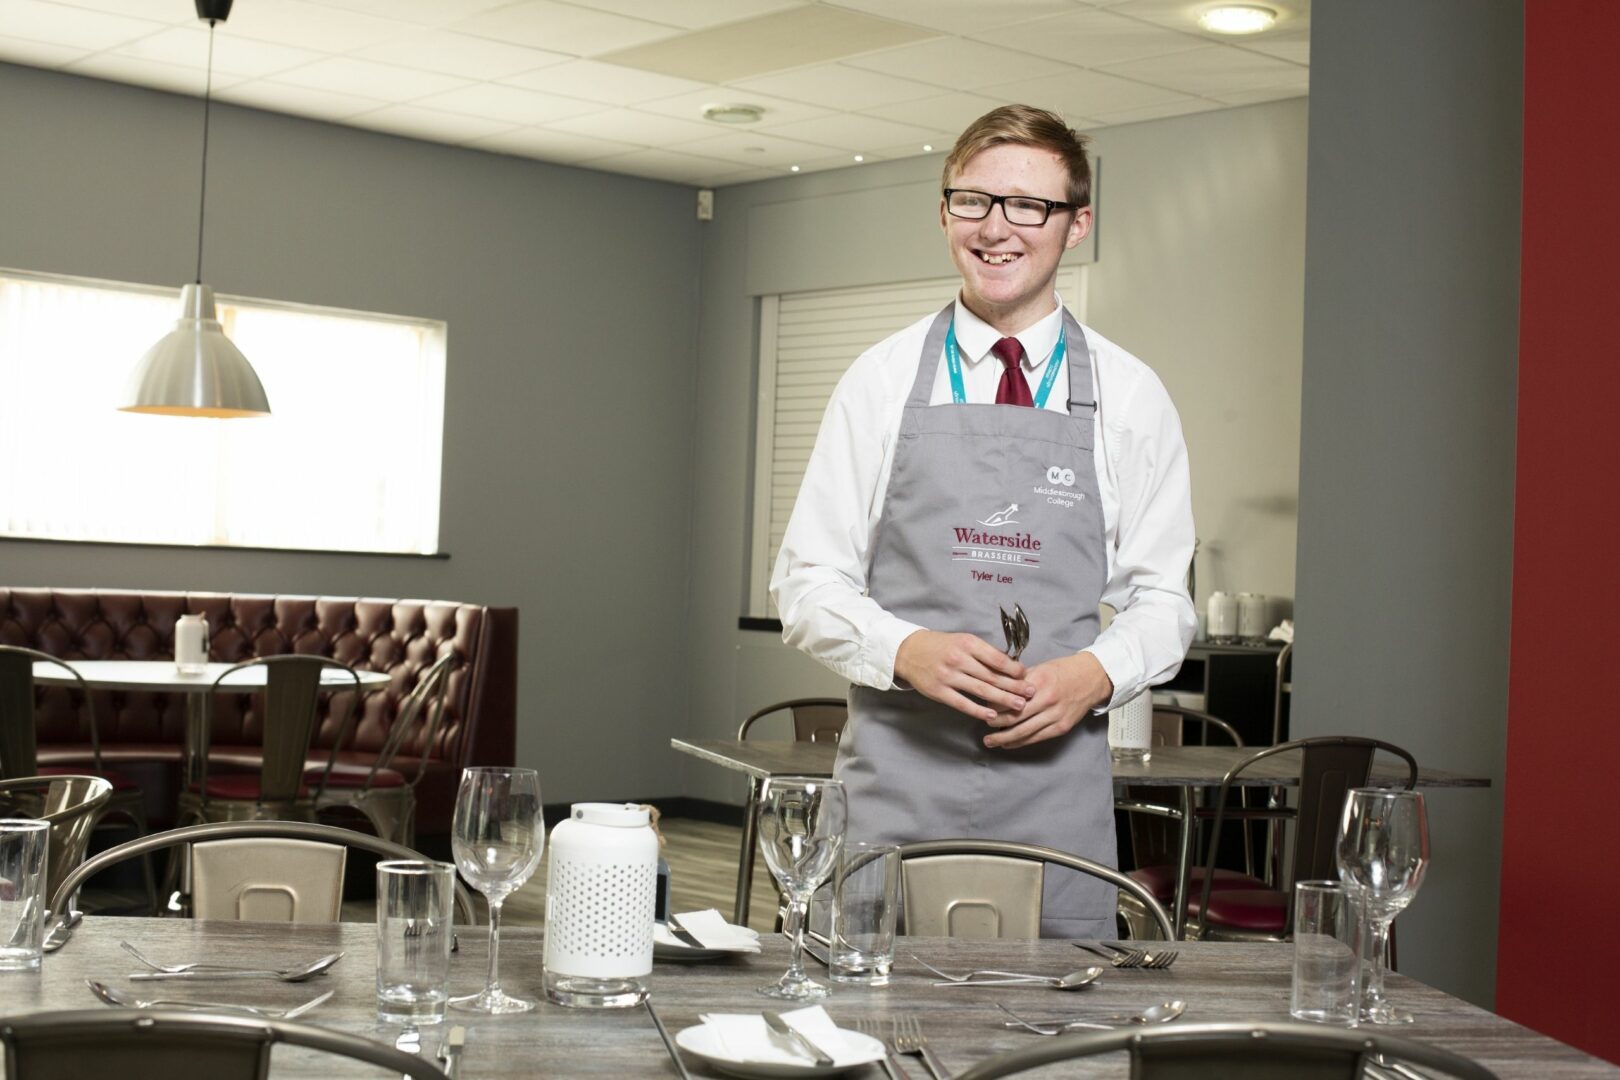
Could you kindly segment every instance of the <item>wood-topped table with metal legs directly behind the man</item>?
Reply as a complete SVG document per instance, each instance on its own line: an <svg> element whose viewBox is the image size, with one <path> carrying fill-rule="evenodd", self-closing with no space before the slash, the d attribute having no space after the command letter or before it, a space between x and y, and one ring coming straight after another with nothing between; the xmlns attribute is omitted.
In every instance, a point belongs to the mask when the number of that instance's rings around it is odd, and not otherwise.
<svg viewBox="0 0 1620 1080"><path fill-rule="evenodd" d="M748 925L748 892L753 882L755 858L755 819L753 808L760 797L760 785L773 776L833 776L833 763L838 758L838 743L786 742L765 738L671 738L671 748L690 755L698 761L716 764L732 772L748 777L748 800L744 806L742 847L737 853L737 895L732 907L732 921L739 926ZM1181 821L1192 821L1202 792L1221 782L1226 771L1259 746L1153 746L1147 759L1115 761L1113 779L1119 785L1132 787L1165 787L1174 789L1178 813ZM1299 785L1298 750L1273 755L1257 761L1252 767L1233 780L1234 787L1275 789ZM1406 779L1405 764L1396 764L1387 755L1375 758L1369 782L1374 785L1401 784ZM1419 766L1418 787L1490 787L1490 777L1464 776L1447 769ZM940 837L956 839L956 837ZM1171 918L1176 936L1186 929L1186 908L1183 897L1187 895L1187 881L1192 873L1194 834L1181 829L1176 852L1176 899Z"/></svg>

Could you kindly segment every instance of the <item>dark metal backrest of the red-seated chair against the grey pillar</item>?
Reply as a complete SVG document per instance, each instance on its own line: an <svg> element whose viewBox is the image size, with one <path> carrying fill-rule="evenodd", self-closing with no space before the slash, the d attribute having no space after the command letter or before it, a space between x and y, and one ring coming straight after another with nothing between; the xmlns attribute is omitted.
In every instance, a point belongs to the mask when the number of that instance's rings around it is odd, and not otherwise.
<svg viewBox="0 0 1620 1080"><path fill-rule="evenodd" d="M1418 759L1409 753L1377 738L1361 738L1359 735L1317 735L1314 738L1296 738L1277 746L1259 750L1221 777L1220 792L1215 801L1215 824L1210 829L1209 873L1204 874L1204 907L1209 910L1210 889L1215 882L1215 855L1220 847L1221 821L1226 818L1233 782L1256 763L1280 753L1298 750L1299 790L1291 813L1286 816L1294 823L1293 842L1293 881L1317 881L1338 878L1338 821L1345 810L1345 798L1354 787L1367 787L1372 776L1372 756L1383 750L1406 763L1406 777L1401 784L1406 790L1418 785ZM1246 811L1251 816L1267 811ZM1278 814L1272 814L1278 816Z"/></svg>

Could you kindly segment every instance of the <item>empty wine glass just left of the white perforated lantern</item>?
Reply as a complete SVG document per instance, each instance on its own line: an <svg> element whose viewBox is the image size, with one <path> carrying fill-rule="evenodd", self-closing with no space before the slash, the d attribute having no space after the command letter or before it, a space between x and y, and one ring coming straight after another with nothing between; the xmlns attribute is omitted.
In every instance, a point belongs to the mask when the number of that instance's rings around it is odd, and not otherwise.
<svg viewBox="0 0 1620 1080"><path fill-rule="evenodd" d="M457 870L489 900L489 984L476 994L452 997L450 1006L468 1012L528 1012L533 1001L501 989L501 904L535 873L546 845L539 774L510 767L462 769L450 829Z"/></svg>

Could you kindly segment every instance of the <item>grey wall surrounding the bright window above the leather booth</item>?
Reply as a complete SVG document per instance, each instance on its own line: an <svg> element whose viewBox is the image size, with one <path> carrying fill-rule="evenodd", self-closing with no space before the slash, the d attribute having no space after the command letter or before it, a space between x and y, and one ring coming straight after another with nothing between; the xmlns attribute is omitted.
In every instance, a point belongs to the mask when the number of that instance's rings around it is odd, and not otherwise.
<svg viewBox="0 0 1620 1080"><path fill-rule="evenodd" d="M0 65L0 266L191 280L199 130L196 99ZM0 580L517 606L546 798L672 795L624 748L685 701L698 249L688 188L217 107L211 285L449 322L450 559L6 541Z"/></svg>

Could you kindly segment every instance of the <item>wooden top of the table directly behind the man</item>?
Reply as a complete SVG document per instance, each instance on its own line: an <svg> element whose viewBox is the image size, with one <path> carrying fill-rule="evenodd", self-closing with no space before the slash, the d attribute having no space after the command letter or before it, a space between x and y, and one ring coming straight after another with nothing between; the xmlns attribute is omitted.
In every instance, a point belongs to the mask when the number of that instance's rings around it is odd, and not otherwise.
<svg viewBox="0 0 1620 1080"><path fill-rule="evenodd" d="M833 776L838 746L833 743L799 743L735 738L671 738L669 745L723 769L752 777ZM1155 746L1147 761L1116 761L1116 780L1144 787L1187 787L1220 784L1226 769L1252 755L1256 746ZM1396 780L1405 769L1379 755L1372 766L1375 782ZM1299 751L1280 753L1254 764L1234 785L1296 787L1299 784ZM1489 777L1460 776L1445 769L1418 769L1418 787L1490 787Z"/></svg>

